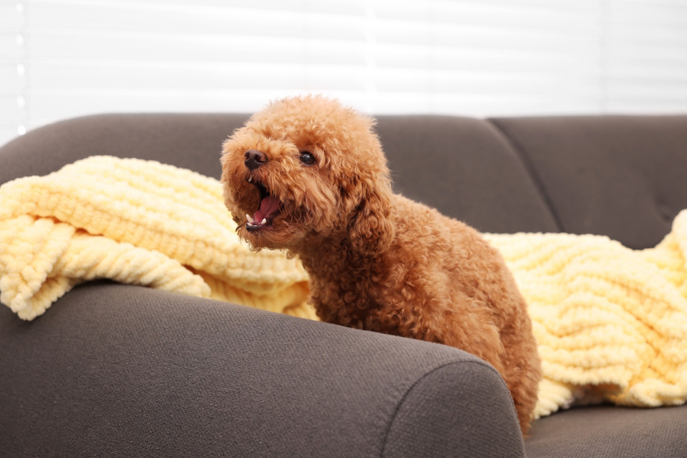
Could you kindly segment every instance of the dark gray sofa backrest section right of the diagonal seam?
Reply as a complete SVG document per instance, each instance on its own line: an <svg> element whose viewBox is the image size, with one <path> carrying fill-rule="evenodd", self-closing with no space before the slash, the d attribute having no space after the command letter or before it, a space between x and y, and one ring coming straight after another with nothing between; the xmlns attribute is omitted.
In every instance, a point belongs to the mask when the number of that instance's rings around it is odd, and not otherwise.
<svg viewBox="0 0 687 458"><path fill-rule="evenodd" d="M561 226L653 247L687 208L687 116L493 119Z"/></svg>

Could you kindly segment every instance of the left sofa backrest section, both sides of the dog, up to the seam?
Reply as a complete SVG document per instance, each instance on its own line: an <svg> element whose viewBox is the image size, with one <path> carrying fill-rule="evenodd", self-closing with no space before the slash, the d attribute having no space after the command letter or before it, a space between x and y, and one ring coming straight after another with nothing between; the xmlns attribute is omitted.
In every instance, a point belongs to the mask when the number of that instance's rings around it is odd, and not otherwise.
<svg viewBox="0 0 687 458"><path fill-rule="evenodd" d="M219 177L221 145L247 115L109 114L67 119L0 148L0 183L93 154L171 163ZM397 192L482 231L557 231L517 154L488 122L382 116L377 126Z"/></svg>

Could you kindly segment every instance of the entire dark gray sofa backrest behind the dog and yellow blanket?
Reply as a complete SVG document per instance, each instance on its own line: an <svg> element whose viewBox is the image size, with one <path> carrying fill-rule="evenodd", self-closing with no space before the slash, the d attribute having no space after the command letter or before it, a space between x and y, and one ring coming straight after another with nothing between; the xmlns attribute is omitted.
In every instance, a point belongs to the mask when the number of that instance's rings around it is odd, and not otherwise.
<svg viewBox="0 0 687 458"><path fill-rule="evenodd" d="M0 147L0 184L93 154L154 159L218 177L221 144L246 119L68 119ZM645 248L687 207L687 116L378 120L396 192L480 231L597 233Z"/></svg>

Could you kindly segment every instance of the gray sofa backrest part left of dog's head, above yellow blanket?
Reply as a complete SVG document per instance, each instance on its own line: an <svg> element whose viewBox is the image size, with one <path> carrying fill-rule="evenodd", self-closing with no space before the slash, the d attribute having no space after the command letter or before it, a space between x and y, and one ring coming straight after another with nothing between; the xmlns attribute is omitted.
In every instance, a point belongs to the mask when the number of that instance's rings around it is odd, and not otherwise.
<svg viewBox="0 0 687 458"><path fill-rule="evenodd" d="M2 147L0 183L89 156L153 159L219 178L222 143L247 115L112 114L43 126Z"/></svg>

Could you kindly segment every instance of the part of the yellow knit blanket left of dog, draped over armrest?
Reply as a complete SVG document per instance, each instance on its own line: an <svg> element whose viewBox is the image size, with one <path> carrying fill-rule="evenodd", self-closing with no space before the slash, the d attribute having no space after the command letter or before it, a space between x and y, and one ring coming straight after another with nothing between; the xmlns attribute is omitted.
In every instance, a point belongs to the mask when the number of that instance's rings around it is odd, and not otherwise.
<svg viewBox="0 0 687 458"><path fill-rule="evenodd" d="M241 244L215 179L94 156L0 187L3 304L34 319L95 278L315 318L300 262Z"/></svg>

